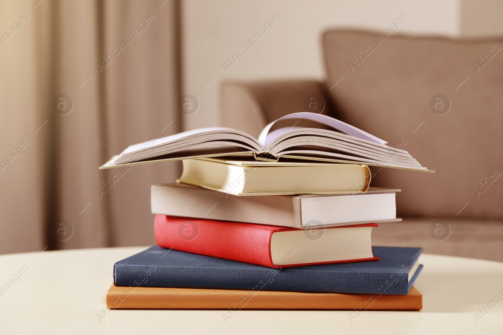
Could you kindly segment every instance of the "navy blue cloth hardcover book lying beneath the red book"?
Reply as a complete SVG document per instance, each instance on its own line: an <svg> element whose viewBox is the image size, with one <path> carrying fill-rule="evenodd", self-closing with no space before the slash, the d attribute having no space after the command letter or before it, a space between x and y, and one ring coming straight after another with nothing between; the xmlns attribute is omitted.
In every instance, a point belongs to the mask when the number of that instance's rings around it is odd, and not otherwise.
<svg viewBox="0 0 503 335"><path fill-rule="evenodd" d="M379 261L268 268L151 247L114 265L116 286L407 294L421 248L372 247ZM409 276L410 274L410 276Z"/></svg>

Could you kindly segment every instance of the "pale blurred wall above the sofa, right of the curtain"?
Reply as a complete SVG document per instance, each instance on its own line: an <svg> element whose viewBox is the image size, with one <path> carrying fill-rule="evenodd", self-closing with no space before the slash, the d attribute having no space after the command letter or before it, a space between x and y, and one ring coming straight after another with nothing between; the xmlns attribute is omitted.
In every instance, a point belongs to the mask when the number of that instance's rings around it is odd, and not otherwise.
<svg viewBox="0 0 503 335"><path fill-rule="evenodd" d="M399 26L401 33L453 37L461 30L460 8L459 0L185 0L182 2L183 92L197 97L199 110L184 116L184 128L220 124L218 91L222 80L323 79L320 37L326 28L384 30L400 13L405 13L407 19ZM281 18L276 19L275 13ZM275 21L272 30L252 45L247 39L271 18ZM233 53L242 50L243 44L249 50L238 59ZM232 56L233 65L227 59ZM223 62L232 66L224 66Z"/></svg>

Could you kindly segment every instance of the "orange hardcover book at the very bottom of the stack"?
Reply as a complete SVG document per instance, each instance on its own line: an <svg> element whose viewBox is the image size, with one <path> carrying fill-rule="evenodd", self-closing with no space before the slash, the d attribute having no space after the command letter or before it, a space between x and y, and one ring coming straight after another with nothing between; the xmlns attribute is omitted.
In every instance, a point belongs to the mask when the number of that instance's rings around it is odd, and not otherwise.
<svg viewBox="0 0 503 335"><path fill-rule="evenodd" d="M107 292L110 309L401 309L423 308L412 286L407 295L123 287Z"/></svg>

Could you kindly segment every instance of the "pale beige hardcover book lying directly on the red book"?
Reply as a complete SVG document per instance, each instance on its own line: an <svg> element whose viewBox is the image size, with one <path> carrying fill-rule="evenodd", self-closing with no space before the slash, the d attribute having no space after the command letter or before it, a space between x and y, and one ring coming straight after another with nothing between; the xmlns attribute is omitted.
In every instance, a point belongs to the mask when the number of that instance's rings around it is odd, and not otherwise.
<svg viewBox="0 0 503 335"><path fill-rule="evenodd" d="M365 193L233 196L173 183L151 187L154 214L247 222L298 229L401 221L399 189L370 187Z"/></svg>

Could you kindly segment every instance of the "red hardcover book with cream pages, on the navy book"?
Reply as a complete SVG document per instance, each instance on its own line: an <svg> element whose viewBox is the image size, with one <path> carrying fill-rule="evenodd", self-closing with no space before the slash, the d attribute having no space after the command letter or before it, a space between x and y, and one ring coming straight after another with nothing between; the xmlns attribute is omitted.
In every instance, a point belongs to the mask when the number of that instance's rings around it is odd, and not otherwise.
<svg viewBox="0 0 503 335"><path fill-rule="evenodd" d="M162 248L286 268L379 260L372 254L372 227L378 225L303 230L156 215L154 233Z"/></svg>

